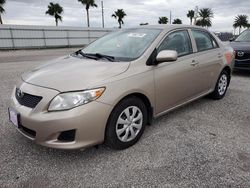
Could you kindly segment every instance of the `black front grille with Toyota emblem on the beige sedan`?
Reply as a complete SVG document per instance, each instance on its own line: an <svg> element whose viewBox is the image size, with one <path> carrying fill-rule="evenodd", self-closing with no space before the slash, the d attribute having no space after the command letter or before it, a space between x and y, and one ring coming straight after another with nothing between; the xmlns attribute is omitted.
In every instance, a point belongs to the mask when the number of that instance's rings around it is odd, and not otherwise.
<svg viewBox="0 0 250 188"><path fill-rule="evenodd" d="M42 100L42 97L22 93L20 89L16 89L15 96L19 104L29 108L35 108L36 105Z"/></svg>

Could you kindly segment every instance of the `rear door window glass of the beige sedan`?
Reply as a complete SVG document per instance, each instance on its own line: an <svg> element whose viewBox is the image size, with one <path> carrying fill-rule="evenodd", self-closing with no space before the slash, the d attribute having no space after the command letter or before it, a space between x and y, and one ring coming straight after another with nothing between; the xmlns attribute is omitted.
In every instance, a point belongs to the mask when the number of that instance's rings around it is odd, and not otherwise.
<svg viewBox="0 0 250 188"><path fill-rule="evenodd" d="M217 48L218 44L212 36L205 31L192 31L198 52Z"/></svg>

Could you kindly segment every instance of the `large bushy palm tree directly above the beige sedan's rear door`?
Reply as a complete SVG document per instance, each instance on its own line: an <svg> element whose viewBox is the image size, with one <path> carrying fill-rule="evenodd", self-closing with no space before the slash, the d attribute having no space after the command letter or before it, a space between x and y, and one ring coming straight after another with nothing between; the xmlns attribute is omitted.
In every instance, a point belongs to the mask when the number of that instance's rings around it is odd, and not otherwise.
<svg viewBox="0 0 250 188"><path fill-rule="evenodd" d="M210 8L200 9L198 15L199 15L199 19L197 20L196 25L202 26L202 27L212 26L211 18L213 18L214 14Z"/></svg>

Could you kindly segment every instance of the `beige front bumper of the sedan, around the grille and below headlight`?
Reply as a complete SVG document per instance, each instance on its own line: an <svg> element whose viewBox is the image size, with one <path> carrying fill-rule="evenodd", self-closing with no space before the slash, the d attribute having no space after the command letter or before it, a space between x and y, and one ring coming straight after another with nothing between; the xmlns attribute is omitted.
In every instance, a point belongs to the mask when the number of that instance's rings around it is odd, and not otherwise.
<svg viewBox="0 0 250 188"><path fill-rule="evenodd" d="M106 122L112 106L97 101L67 111L48 112L50 100L59 92L53 89L22 83L18 86L23 92L43 96L35 108L20 105L11 97L11 108L20 114L18 130L37 144L58 148L77 149L102 143L104 141ZM62 132L74 130L74 139L61 141Z"/></svg>

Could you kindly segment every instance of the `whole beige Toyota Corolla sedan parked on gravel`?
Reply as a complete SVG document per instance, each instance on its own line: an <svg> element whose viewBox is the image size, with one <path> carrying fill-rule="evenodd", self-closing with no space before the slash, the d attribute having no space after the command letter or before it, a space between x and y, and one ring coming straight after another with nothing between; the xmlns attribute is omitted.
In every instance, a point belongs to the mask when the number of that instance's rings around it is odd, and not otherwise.
<svg viewBox="0 0 250 188"><path fill-rule="evenodd" d="M125 149L153 118L206 95L222 99L233 61L233 49L200 27L114 31L23 74L10 121L43 146Z"/></svg>

